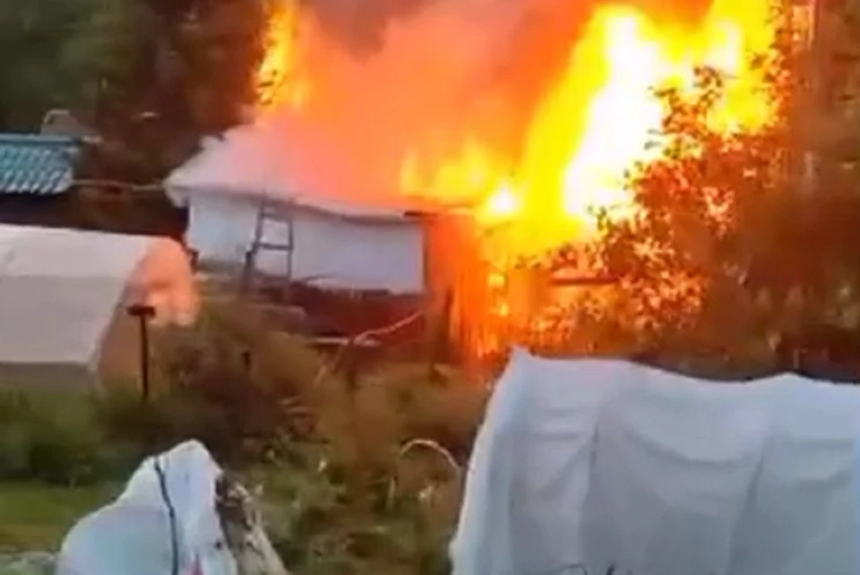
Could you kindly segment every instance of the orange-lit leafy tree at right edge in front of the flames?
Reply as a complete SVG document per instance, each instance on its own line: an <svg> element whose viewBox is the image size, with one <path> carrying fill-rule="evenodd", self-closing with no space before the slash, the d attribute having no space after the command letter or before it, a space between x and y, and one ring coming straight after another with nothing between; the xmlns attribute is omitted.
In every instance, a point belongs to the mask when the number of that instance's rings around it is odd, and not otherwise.
<svg viewBox="0 0 860 575"><path fill-rule="evenodd" d="M602 305L579 306L579 325L613 339L596 348L749 374L778 362L780 341L822 325L841 339L860 331L860 179L846 153L856 138L847 100L832 105L856 82L845 55L858 44L841 38L797 52L780 34L761 61L777 121L759 130L711 127L727 90L714 70L698 71L692 93L660 90L666 153L632 170L638 212L606 219L591 254L619 282Z"/></svg>

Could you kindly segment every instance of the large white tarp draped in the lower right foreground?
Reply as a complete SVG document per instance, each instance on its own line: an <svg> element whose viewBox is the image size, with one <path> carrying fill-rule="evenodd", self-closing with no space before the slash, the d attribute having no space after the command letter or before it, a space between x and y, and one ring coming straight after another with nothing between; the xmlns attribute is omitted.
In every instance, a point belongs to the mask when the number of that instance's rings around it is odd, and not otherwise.
<svg viewBox="0 0 860 575"><path fill-rule="evenodd" d="M517 352L469 465L455 575L860 573L860 390Z"/></svg>

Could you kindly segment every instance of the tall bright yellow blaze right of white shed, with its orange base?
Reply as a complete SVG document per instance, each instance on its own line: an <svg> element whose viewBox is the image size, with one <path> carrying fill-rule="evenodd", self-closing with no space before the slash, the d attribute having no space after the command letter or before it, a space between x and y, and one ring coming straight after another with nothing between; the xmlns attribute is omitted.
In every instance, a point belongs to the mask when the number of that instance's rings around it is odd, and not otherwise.
<svg viewBox="0 0 860 575"><path fill-rule="evenodd" d="M466 344L472 353L498 350L511 334L516 339L520 328L539 338L539 330L547 329L545 310L536 308L533 298L544 297L542 280L529 279L519 292L508 282L520 256L543 257L560 245L597 239L601 215L618 219L635 213L625 189L628 170L666 153L667 142L659 135L665 110L656 89L692 90L696 68L710 66L727 82L708 118L713 129L755 131L776 119L776 103L754 65L775 40L772 5L771 0L714 0L696 26L657 22L628 5L604 5L539 102L517 161L474 137L430 169L428 158L410 154L401 173L406 193L441 202L470 198L478 225L486 227L477 253L499 271L490 272L485 291L474 288L476 279L455 280L460 282L455 291L469 295L459 322L474 330L477 343ZM694 307L701 300L701 286L693 279L666 283L668 298L684 299L678 305ZM548 285L552 290L551 281ZM568 301L578 293L555 290L551 297Z"/></svg>

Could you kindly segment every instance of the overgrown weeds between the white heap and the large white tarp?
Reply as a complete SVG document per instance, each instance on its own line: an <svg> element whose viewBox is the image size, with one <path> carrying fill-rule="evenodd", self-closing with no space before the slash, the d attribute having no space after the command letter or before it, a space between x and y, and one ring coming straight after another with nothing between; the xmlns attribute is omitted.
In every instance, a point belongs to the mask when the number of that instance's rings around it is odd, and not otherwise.
<svg viewBox="0 0 860 575"><path fill-rule="evenodd" d="M288 356L303 356L298 348ZM276 358L269 373L287 371ZM265 477L265 514L288 568L308 575L449 572L461 477L438 454L399 452L404 442L425 438L466 459L486 391L456 373L431 377L426 365L378 365L356 390L336 374L319 377L318 365L305 371L315 374L315 385L299 387L314 410L316 443L291 444L278 471Z"/></svg>

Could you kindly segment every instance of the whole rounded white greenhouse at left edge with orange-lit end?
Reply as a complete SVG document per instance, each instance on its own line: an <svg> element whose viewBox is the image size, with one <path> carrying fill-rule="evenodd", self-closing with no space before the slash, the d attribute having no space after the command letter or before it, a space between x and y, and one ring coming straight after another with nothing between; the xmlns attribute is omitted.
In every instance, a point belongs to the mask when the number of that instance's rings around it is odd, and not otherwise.
<svg viewBox="0 0 860 575"><path fill-rule="evenodd" d="M193 321L193 274L176 241L0 225L0 383L135 374L131 304L154 307L155 324Z"/></svg>

